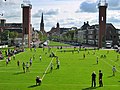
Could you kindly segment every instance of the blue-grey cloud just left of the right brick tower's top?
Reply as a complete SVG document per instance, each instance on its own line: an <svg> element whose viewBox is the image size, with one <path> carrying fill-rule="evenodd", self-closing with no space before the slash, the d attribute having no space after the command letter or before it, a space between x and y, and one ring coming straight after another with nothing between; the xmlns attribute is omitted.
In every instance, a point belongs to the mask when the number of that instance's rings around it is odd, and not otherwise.
<svg viewBox="0 0 120 90"><path fill-rule="evenodd" d="M76 13L79 13L79 12L96 13L97 12L96 6L97 6L97 4L95 2L84 1L80 4L80 7L76 11Z"/></svg>

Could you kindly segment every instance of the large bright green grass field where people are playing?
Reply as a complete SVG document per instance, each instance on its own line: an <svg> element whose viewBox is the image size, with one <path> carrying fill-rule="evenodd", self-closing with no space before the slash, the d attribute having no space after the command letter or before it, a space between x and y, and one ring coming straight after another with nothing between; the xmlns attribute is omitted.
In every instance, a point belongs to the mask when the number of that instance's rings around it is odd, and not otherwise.
<svg viewBox="0 0 120 90"><path fill-rule="evenodd" d="M77 49L77 48L76 48ZM37 48L37 51L32 52L26 49L25 52L16 55L16 60L11 57L11 62L6 66L5 60L0 61L0 90L120 90L120 60L117 60L117 55L113 50L81 50L78 52L67 52L73 48L63 48L63 51L52 48L51 51L59 57L60 69L56 69L56 59L50 58L48 49ZM47 54L45 54L47 52ZM86 58L83 59L85 53ZM100 55L105 54L107 58L100 58ZM35 55L32 66L29 72L23 73L22 62L29 62L30 57ZM42 56L42 61L39 60L39 55ZM96 57L99 57L99 63L96 64ZM17 61L20 60L20 67L17 66ZM54 69L50 73L48 68L50 62L53 62ZM112 67L116 66L117 72L112 76ZM48 68L48 69L47 69ZM98 74L99 70L103 72L103 87L99 87ZM44 72L47 71L45 74ZM96 72L96 88L91 88L91 74ZM43 78L42 84L36 86L36 76ZM43 77L44 76L44 77Z"/></svg>

